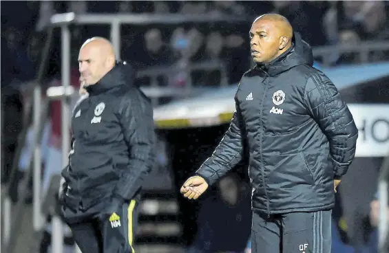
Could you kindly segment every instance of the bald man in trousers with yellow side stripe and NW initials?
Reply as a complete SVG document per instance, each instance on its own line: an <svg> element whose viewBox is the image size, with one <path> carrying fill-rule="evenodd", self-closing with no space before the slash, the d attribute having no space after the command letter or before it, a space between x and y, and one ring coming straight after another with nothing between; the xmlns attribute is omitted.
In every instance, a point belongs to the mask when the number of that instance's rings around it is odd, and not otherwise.
<svg viewBox="0 0 389 253"><path fill-rule="evenodd" d="M140 190L155 157L153 109L106 39L85 41L78 66L85 95L73 111L63 217L83 253L134 252Z"/></svg>

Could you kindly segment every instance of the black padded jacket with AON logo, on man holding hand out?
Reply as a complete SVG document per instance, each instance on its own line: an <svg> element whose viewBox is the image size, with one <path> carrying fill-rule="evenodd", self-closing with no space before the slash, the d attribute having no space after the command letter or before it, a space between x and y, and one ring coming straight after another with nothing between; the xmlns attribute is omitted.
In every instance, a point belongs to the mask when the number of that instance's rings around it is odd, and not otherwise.
<svg viewBox="0 0 389 253"><path fill-rule="evenodd" d="M315 212L334 206L333 179L354 159L357 127L333 83L313 67L311 47L293 47L242 76L236 111L197 171L213 184L249 151L253 210Z"/></svg>

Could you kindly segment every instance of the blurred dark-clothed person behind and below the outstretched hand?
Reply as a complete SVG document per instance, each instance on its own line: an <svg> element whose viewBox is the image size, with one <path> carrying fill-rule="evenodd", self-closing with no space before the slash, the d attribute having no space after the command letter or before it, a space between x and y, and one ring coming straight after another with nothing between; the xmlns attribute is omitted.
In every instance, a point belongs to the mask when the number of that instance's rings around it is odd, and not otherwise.
<svg viewBox="0 0 389 253"><path fill-rule="evenodd" d="M243 252L250 236L251 196L238 176L218 181L218 197L202 203L190 253Z"/></svg>

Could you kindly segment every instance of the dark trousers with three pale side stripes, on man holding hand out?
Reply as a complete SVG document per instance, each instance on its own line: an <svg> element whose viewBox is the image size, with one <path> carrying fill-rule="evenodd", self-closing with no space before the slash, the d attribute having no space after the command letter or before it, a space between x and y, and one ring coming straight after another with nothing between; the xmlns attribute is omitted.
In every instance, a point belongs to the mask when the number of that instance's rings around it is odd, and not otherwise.
<svg viewBox="0 0 389 253"><path fill-rule="evenodd" d="M330 253L331 211L253 213L252 253Z"/></svg>

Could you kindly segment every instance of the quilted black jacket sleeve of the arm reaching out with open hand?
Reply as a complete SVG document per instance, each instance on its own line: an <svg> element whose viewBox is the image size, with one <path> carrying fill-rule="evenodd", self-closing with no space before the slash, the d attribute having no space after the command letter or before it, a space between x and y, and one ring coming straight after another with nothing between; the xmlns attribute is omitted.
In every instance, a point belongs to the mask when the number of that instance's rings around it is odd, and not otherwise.
<svg viewBox="0 0 389 253"><path fill-rule="evenodd" d="M244 138L242 132L244 124L236 97L235 106L236 111L233 113L229 129L211 157L196 171L196 174L203 177L209 185L215 183L243 158Z"/></svg>

